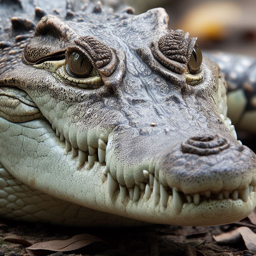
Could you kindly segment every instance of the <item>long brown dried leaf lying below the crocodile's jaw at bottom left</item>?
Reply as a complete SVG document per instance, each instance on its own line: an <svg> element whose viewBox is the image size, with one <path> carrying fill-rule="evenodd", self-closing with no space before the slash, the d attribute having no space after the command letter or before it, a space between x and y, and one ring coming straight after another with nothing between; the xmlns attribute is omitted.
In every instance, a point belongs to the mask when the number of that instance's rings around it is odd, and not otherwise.
<svg viewBox="0 0 256 256"><path fill-rule="evenodd" d="M84 246L92 244L94 242L103 242L100 238L89 234L80 234L73 236L67 240L52 240L47 242L40 242L33 244L26 248L26 251L31 256L46 255L43 251L54 251L54 252L68 252L72 250L80 249ZM49 254L49 253L48 253Z"/></svg>

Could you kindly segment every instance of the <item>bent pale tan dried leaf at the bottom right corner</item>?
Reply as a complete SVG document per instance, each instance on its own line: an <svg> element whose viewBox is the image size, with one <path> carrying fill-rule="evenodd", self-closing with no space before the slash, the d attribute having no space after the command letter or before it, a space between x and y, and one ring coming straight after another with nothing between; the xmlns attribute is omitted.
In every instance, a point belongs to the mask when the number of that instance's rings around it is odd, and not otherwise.
<svg viewBox="0 0 256 256"><path fill-rule="evenodd" d="M237 228L228 233L223 233L218 236L213 236L214 240L219 243L237 242L241 237L244 240L246 248L252 252L256 252L256 234L247 227Z"/></svg>

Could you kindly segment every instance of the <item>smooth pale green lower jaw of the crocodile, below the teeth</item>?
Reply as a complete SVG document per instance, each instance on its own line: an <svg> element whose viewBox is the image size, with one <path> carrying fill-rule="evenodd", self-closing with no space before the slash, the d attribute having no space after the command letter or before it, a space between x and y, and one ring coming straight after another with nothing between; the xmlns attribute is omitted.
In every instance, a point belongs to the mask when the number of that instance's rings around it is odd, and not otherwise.
<svg viewBox="0 0 256 256"><path fill-rule="evenodd" d="M172 196L168 197L167 207L161 202L155 204L153 194L146 199L143 191L138 201L130 200L129 196L122 201L119 189L110 197L108 179L102 174L105 166L95 162L92 168L88 168L86 162L80 167L78 158L73 158L72 152L66 152L65 144L60 142L46 121L14 124L1 118L0 123L1 141L11 138L0 147L3 165L10 166L9 172L31 188L56 198L136 220L188 226L191 223L206 226L234 222L245 218L255 208L255 192L250 193L247 202L223 199L204 201L197 206L184 203L179 213L174 209ZM17 147L7 145L12 143ZM28 144L31 152L26 149ZM36 148L40 148L40 155L32 155Z"/></svg>

